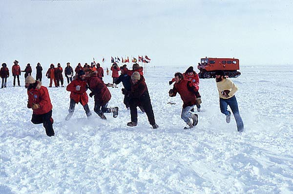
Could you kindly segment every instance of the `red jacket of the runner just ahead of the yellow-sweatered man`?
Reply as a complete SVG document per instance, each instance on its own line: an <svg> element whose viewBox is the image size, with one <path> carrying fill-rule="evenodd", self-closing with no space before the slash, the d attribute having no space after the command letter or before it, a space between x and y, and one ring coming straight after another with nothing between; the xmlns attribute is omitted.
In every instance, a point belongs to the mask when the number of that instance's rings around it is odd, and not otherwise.
<svg viewBox="0 0 293 194"><path fill-rule="evenodd" d="M179 83L174 84L172 97L175 97L177 92L180 94L180 97L183 100L183 108L195 105L196 97L200 97L193 84L184 78L181 79Z"/></svg>

